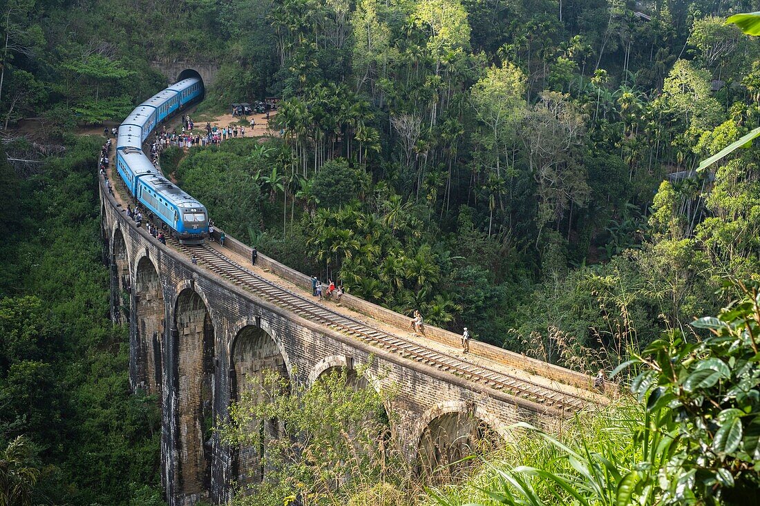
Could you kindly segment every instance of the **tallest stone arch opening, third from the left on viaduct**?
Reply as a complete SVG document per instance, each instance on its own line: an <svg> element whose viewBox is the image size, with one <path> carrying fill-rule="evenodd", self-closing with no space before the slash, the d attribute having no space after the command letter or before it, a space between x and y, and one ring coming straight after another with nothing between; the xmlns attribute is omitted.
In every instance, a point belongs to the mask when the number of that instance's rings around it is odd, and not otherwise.
<svg viewBox="0 0 760 506"><path fill-rule="evenodd" d="M176 481L183 494L197 495L211 485L215 327L207 300L197 287L185 283L180 287L172 329L179 431Z"/></svg>

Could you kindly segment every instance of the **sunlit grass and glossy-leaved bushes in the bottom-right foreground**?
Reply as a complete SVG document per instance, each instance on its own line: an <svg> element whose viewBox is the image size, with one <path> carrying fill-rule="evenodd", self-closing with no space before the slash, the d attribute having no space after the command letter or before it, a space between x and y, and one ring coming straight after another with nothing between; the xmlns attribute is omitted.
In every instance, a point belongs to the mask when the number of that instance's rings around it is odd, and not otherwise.
<svg viewBox="0 0 760 506"><path fill-rule="evenodd" d="M473 479L482 504L751 504L760 486L758 284L727 283L742 299L695 330L663 333L619 366L638 372L634 398L565 425L558 440L527 424L519 456L494 460ZM534 437L538 433L541 438ZM532 441L530 438L533 438ZM518 457L515 459L515 457ZM518 464L518 465L515 465ZM440 504L462 504L470 486L443 489ZM483 493L485 492L485 493ZM475 494L475 495L481 495Z"/></svg>

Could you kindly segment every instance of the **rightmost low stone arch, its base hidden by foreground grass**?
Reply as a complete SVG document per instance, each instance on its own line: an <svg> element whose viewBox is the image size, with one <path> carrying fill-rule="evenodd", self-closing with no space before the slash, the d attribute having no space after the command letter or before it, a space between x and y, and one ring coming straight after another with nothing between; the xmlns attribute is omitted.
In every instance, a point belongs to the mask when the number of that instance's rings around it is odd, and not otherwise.
<svg viewBox="0 0 760 506"><path fill-rule="evenodd" d="M458 476L472 462L458 461L496 446L502 438L501 425L490 413L479 410L474 401L450 401L430 408L413 432L417 475L429 481Z"/></svg>

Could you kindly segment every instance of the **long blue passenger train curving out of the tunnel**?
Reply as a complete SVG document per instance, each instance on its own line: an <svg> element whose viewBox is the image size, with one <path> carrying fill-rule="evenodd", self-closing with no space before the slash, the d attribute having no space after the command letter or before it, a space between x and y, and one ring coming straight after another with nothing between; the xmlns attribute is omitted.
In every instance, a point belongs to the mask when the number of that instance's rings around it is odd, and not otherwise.
<svg viewBox="0 0 760 506"><path fill-rule="evenodd" d="M127 116L116 138L116 170L129 191L172 229L182 244L201 244L208 236L203 205L166 180L143 153L142 144L163 119L203 94L203 82L183 79L151 96Z"/></svg>

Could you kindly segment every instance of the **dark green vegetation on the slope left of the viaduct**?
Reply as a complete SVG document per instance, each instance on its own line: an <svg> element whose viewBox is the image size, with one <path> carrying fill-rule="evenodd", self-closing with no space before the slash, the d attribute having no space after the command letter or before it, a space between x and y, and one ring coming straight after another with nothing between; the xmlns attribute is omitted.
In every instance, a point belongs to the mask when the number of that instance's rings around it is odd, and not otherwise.
<svg viewBox="0 0 760 506"><path fill-rule="evenodd" d="M13 226L0 245L0 449L27 438L32 504L160 504L156 400L131 395L127 332L109 321L99 141L69 146L25 180L0 163L0 188L15 190L0 216Z"/></svg>

